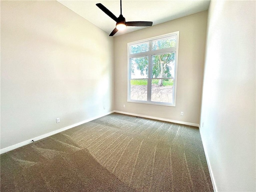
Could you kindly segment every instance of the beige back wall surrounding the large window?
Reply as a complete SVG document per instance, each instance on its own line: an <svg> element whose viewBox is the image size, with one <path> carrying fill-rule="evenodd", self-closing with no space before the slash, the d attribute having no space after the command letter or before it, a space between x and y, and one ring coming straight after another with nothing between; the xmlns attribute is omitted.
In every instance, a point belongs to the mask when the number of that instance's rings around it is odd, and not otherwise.
<svg viewBox="0 0 256 192"><path fill-rule="evenodd" d="M199 124L207 11L114 38L115 110ZM180 31L176 107L127 102L127 43ZM123 105L126 108L123 108ZM184 116L180 116L180 112Z"/></svg>

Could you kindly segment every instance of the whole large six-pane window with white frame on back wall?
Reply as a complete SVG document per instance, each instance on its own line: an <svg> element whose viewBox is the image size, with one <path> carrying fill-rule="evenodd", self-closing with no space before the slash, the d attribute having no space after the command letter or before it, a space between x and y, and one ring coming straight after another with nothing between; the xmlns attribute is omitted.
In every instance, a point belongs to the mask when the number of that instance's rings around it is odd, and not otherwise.
<svg viewBox="0 0 256 192"><path fill-rule="evenodd" d="M128 43L128 102L175 106L179 32Z"/></svg>

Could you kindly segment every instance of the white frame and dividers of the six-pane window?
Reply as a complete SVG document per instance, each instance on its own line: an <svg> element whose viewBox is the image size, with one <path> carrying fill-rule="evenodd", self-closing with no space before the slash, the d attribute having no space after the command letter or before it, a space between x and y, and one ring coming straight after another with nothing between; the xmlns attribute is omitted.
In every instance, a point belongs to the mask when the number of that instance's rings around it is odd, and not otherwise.
<svg viewBox="0 0 256 192"><path fill-rule="evenodd" d="M179 31L177 32L172 32L169 34L164 34L164 35L160 35L160 36L155 36L152 38L147 38L144 40L139 40L139 41L135 41L135 42L130 42L127 44L127 56L128 56L128 94L127 94L127 102L133 102L133 103L143 103L143 104L153 104L153 105L163 105L163 106L176 106L176 88L177 88L177 74L178 74L178 46L179 46ZM160 50L153 50L152 51L152 41L154 40L159 40L159 39L164 39L164 38L169 38L172 36L176 36L176 47L172 47L172 48L165 48L165 49L160 49ZM137 53L137 54L130 54L130 46L135 45L135 44L142 44L143 42L149 42L149 51L147 52L141 52L141 53ZM149 74L148 74L148 78L144 78L143 80L148 80L148 95L147 95L147 101L142 101L142 100L131 100L130 99L130 80L131 80L131 72L130 72L130 58L136 58L136 57L143 57L143 56L148 56L149 59L149 65L148 68L152 68L152 56L156 55L156 54L164 54L164 53L170 53L170 52L176 52L175 54L175 72L174 72L174 78L169 78L169 79L173 79L173 100L172 103L164 103L164 102L152 102L150 101L151 98L151 82L152 82L152 74L151 74L151 69L149 69ZM155 79L155 78L153 78ZM161 78L157 78L157 79L161 79ZM166 79L166 78L162 78L162 79ZM139 80L139 79L138 79Z"/></svg>

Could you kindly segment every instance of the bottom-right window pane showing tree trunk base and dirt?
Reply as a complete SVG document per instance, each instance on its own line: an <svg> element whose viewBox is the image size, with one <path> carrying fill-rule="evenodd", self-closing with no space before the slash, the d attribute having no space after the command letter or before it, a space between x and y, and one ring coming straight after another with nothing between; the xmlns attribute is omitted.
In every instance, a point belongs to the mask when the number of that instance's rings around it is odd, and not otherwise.
<svg viewBox="0 0 256 192"><path fill-rule="evenodd" d="M173 79L152 79L151 101L172 103Z"/></svg>

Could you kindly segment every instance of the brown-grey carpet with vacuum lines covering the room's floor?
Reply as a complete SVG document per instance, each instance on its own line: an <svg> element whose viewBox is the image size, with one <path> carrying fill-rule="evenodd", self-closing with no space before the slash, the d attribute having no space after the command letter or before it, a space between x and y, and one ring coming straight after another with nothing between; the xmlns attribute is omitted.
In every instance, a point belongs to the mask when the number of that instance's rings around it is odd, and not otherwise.
<svg viewBox="0 0 256 192"><path fill-rule="evenodd" d="M213 191L198 128L117 113L0 158L1 192Z"/></svg>

